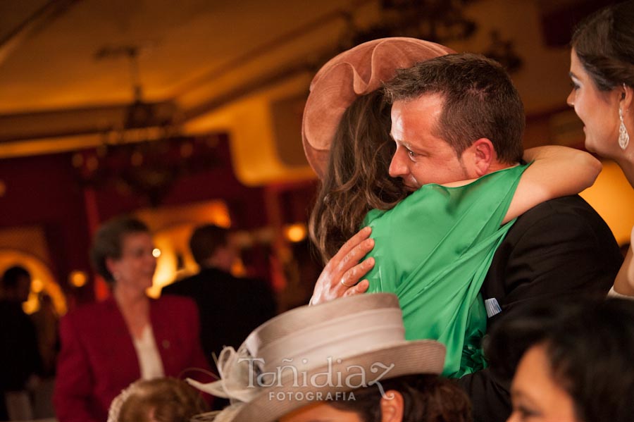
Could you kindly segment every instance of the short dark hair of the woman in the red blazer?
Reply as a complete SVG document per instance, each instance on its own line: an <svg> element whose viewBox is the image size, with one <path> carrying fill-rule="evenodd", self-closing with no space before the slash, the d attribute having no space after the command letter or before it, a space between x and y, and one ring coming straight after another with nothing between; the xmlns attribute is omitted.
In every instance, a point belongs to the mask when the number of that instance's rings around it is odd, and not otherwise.
<svg viewBox="0 0 634 422"><path fill-rule="evenodd" d="M108 270L106 259L119 259L123 237L132 233L149 233L149 228L142 221L132 217L118 217L106 221L97 230L90 249L90 260L95 271L108 283L113 283L114 278Z"/></svg>

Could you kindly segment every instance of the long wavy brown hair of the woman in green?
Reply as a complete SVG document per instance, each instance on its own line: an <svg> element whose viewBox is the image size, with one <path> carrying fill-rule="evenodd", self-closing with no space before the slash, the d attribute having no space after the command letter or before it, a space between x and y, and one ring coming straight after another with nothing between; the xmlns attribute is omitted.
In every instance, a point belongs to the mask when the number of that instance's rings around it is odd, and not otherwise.
<svg viewBox="0 0 634 422"><path fill-rule="evenodd" d="M402 182L388 173L394 148L390 106L382 92L357 98L332 139L328 168L311 213L311 240L324 262L361 228L368 211L392 209L406 196Z"/></svg>

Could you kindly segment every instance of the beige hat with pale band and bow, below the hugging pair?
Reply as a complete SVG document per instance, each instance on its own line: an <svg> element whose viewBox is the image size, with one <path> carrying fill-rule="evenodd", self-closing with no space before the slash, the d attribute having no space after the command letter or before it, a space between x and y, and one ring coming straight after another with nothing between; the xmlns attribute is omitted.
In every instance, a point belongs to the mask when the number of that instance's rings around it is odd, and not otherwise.
<svg viewBox="0 0 634 422"><path fill-rule="evenodd" d="M445 346L405 340L394 294L361 294L285 312L218 359L221 379L189 383L232 405L197 420L272 422L307 404L344 400L359 387L413 374L440 374ZM215 418L213 418L215 417Z"/></svg>

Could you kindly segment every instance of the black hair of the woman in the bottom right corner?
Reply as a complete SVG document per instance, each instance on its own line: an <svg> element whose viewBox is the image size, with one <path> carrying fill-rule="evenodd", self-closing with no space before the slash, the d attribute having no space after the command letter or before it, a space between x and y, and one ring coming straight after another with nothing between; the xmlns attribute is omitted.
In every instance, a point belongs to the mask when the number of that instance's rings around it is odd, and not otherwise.
<svg viewBox="0 0 634 422"><path fill-rule="evenodd" d="M553 378L585 422L629 422L634 404L634 302L625 299L529 306L491 335L491 368L509 371L544 345ZM500 365L506 359L506 364Z"/></svg>

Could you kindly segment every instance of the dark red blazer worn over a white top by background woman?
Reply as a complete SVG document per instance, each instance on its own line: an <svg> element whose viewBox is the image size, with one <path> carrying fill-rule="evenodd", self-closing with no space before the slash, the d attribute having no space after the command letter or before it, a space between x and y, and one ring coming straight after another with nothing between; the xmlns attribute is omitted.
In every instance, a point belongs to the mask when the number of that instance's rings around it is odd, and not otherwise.
<svg viewBox="0 0 634 422"><path fill-rule="evenodd" d="M188 368L209 370L191 299L151 299L150 321L166 376L182 378ZM82 306L62 318L60 337L53 397L58 421L105 422L112 399L141 376L115 300Z"/></svg>

